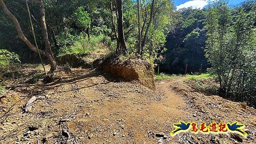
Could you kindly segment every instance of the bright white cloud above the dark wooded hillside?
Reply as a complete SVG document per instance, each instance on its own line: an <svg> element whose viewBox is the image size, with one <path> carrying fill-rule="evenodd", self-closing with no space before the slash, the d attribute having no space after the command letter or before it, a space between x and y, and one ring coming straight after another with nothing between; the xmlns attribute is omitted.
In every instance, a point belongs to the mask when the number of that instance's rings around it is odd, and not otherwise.
<svg viewBox="0 0 256 144"><path fill-rule="evenodd" d="M182 8L189 8L189 7L192 7L194 9L195 8L202 9L203 7L205 7L206 5L214 1L216 0L192 0L177 6L177 10Z"/></svg>

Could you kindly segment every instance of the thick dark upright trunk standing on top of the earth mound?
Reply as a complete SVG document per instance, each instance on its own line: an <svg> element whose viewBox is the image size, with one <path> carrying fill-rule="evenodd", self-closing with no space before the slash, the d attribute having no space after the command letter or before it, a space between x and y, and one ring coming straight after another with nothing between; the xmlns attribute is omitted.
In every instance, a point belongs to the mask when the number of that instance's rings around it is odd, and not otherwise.
<svg viewBox="0 0 256 144"><path fill-rule="evenodd" d="M117 42L117 54L126 54L127 53L127 46L125 42L125 35L124 35L124 24L123 24L123 6L122 0L117 0L117 32L118 32L118 42Z"/></svg>

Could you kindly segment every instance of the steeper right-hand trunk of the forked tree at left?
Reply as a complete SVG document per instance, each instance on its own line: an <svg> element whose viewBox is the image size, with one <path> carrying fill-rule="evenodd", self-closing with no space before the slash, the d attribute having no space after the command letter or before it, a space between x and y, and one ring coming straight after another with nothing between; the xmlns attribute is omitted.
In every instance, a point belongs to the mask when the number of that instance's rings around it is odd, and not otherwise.
<svg viewBox="0 0 256 144"><path fill-rule="evenodd" d="M51 44L48 38L48 32L47 32L47 26L46 26L46 22L45 22L45 7L44 7L44 2L43 0L38 0L38 4L40 6L40 13L41 13L41 23L42 23L42 31L43 31L43 35L44 35L44 40L45 40L45 48L46 51L51 55L51 59L53 61L50 61L51 64L51 71L56 70L56 61L53 55L53 52L51 50Z"/></svg>

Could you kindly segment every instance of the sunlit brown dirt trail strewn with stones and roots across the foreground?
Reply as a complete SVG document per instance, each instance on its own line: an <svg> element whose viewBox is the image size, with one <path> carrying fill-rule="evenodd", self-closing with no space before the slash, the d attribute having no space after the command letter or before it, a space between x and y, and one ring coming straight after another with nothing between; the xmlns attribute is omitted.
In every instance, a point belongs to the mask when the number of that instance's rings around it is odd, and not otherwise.
<svg viewBox="0 0 256 144"><path fill-rule="evenodd" d="M63 74L63 79L52 84L7 91L7 97L1 100L3 109L0 114L6 115L1 118L0 143L238 141L241 138L238 135L232 137L227 134L169 135L174 129L172 124L179 120L213 122L219 119L247 122L250 134L248 138L242 138L242 141L256 143L254 109L244 110L235 102L218 96L205 96L195 91L190 84L184 83L185 78L158 81L156 91L152 91L135 82L113 81L90 69L76 68L72 71L72 74ZM32 111L22 113L21 106L33 95L38 99ZM8 112L16 101L16 105ZM232 113L227 114L226 110L230 111L230 108L226 108L226 105L233 109ZM154 136L160 132L167 137L163 139Z"/></svg>

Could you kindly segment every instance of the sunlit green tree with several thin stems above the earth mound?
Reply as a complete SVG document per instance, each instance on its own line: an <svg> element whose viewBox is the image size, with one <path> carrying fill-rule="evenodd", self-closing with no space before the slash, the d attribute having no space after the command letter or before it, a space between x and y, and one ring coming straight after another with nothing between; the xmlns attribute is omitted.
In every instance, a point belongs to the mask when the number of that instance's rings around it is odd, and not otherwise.
<svg viewBox="0 0 256 144"><path fill-rule="evenodd" d="M153 63L156 56L164 50L173 3L169 0L123 2L128 53L140 54L142 59Z"/></svg>

